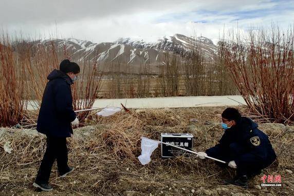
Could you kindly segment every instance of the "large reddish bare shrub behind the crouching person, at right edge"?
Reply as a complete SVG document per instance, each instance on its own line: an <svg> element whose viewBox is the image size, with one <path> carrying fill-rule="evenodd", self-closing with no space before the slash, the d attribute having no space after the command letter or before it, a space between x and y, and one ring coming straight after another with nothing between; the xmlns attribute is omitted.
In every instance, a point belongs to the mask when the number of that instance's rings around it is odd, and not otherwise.
<svg viewBox="0 0 294 196"><path fill-rule="evenodd" d="M294 121L293 31L251 30L223 42L225 64L249 110L270 121Z"/></svg>

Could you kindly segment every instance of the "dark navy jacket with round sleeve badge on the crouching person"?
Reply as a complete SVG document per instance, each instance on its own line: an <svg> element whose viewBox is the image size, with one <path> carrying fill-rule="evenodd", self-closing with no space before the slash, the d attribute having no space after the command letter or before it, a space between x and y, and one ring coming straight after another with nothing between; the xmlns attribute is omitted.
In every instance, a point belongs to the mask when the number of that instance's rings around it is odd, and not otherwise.
<svg viewBox="0 0 294 196"><path fill-rule="evenodd" d="M206 153L214 158L235 161L237 167L258 164L264 168L276 159L268 136L248 117L242 117L235 126L225 130L219 144Z"/></svg>

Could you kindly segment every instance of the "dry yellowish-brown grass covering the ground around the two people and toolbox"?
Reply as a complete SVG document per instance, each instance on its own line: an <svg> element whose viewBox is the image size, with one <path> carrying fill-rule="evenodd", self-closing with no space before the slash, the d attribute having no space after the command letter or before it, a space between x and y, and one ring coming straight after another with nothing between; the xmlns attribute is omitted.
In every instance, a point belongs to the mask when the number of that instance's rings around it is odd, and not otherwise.
<svg viewBox="0 0 294 196"><path fill-rule="evenodd" d="M233 170L220 170L212 161L197 160L194 156L161 159L160 149L155 150L150 164L142 166L138 162L140 136L159 140L162 132L188 132L195 137L194 149L197 151L215 145L222 135L217 124L223 109L131 110L109 117L88 116L86 123L89 126L75 129L73 138L68 139L69 163L76 167L75 172L60 179L54 166L50 183L55 190L39 194L188 195L194 189L199 195L209 192L211 195L231 195L231 192L277 195L294 188L292 176L285 173L285 169L294 169L294 129L281 124L261 125L279 159L264 173L281 174L281 188L255 189L254 185L261 183L257 177L250 182L248 191L220 185L220 178L233 175ZM190 122L192 118L197 122ZM6 130L0 146L11 141L13 151L8 154L0 148L0 161L3 163L0 189L2 193L12 190L16 195L31 195L34 193L31 184L44 153L45 138L38 134L29 136L21 130Z"/></svg>

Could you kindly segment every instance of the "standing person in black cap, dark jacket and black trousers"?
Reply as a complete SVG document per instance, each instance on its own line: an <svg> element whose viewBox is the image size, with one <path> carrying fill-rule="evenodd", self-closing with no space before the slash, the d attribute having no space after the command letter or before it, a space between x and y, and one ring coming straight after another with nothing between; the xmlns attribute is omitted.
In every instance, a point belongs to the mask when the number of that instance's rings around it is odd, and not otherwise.
<svg viewBox="0 0 294 196"><path fill-rule="evenodd" d="M67 165L66 138L73 133L71 125L79 124L73 111L70 89L79 72L78 64L64 60L60 64L60 70L54 69L47 77L49 82L44 90L37 122L38 132L47 136L47 148L33 183L34 187L44 191L52 190L48 181L55 160L60 177L65 177L73 170Z"/></svg>

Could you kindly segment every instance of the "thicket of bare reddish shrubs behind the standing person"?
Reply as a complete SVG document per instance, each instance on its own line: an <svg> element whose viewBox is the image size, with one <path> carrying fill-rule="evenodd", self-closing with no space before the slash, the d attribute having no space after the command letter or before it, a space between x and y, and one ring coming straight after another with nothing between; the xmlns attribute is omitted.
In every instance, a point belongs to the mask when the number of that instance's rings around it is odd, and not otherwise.
<svg viewBox="0 0 294 196"><path fill-rule="evenodd" d="M54 40L24 41L15 37L12 42L11 37L3 33L0 42L1 126L17 123L34 125L38 112L28 112L28 104L40 108L48 82L47 75L53 69L59 69L59 63L65 58L70 59L73 54L67 51L66 45L58 45ZM79 59L83 59L78 62L81 67L80 80L72 85L75 110L93 106L103 75L103 68L96 63L97 57L91 61L82 56ZM78 114L83 122L88 111Z"/></svg>

